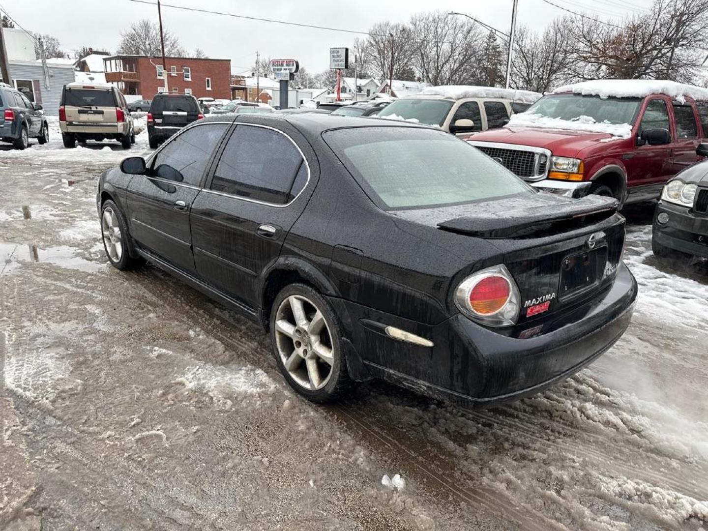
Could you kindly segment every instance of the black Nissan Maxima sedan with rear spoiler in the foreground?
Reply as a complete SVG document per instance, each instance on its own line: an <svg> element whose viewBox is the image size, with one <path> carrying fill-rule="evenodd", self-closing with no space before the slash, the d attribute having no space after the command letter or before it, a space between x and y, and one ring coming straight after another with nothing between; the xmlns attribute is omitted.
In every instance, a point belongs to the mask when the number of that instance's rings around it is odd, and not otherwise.
<svg viewBox="0 0 708 531"><path fill-rule="evenodd" d="M539 193L433 127L199 120L98 186L103 243L270 334L312 401L374 377L484 406L598 358L632 316L612 198Z"/></svg>

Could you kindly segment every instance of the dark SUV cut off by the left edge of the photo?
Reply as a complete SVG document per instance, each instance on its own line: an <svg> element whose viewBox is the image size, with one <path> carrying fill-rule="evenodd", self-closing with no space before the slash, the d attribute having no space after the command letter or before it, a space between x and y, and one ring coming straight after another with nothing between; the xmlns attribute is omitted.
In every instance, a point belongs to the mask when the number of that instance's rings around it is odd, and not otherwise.
<svg viewBox="0 0 708 531"><path fill-rule="evenodd" d="M20 91L0 83L0 140L12 142L17 149L29 147L30 138L46 144L49 127L41 110L39 103L32 103Z"/></svg>

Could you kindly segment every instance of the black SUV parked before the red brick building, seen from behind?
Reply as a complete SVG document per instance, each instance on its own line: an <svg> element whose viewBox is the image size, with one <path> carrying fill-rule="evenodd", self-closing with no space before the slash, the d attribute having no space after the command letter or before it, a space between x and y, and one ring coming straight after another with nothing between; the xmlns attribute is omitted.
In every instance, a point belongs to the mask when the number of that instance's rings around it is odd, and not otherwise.
<svg viewBox="0 0 708 531"><path fill-rule="evenodd" d="M188 94L156 94L147 113L147 139L153 149L185 125L204 118L197 98Z"/></svg>

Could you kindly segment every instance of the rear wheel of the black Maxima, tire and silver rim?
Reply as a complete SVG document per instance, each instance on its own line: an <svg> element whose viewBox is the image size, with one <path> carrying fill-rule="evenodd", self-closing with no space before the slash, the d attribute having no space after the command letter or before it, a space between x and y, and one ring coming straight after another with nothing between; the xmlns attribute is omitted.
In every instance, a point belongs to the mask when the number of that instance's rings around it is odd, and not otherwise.
<svg viewBox="0 0 708 531"><path fill-rule="evenodd" d="M270 341L287 383L313 402L334 401L350 386L339 320L304 284L285 287L270 310Z"/></svg>

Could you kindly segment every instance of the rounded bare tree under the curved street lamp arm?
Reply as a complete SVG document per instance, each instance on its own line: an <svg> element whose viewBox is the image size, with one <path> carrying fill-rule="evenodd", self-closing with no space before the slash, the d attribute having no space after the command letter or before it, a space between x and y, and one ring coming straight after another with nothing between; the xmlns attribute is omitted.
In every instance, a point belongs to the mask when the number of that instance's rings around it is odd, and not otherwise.
<svg viewBox="0 0 708 531"><path fill-rule="evenodd" d="M411 63L431 85L462 84L479 64L481 33L467 18L442 11L411 18L414 52Z"/></svg>

